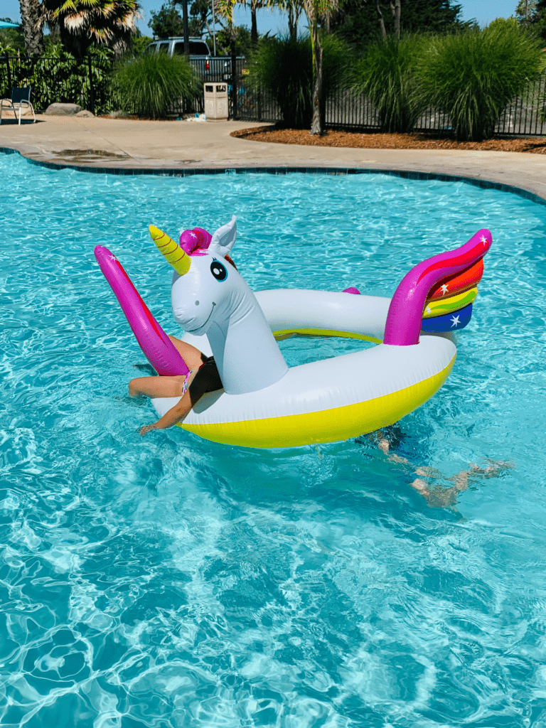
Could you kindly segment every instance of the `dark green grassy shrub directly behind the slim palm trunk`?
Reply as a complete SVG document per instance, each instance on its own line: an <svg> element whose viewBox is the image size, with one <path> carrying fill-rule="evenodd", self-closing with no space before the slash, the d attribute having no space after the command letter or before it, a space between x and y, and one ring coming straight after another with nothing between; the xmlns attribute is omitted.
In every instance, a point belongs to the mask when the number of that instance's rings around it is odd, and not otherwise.
<svg viewBox="0 0 546 728"><path fill-rule="evenodd" d="M333 36L324 36L323 99L341 84L346 57L345 45ZM309 129L313 116L313 66L309 36L263 39L250 59L248 82L268 91L280 107L282 122L291 129Z"/></svg>

